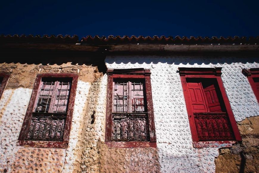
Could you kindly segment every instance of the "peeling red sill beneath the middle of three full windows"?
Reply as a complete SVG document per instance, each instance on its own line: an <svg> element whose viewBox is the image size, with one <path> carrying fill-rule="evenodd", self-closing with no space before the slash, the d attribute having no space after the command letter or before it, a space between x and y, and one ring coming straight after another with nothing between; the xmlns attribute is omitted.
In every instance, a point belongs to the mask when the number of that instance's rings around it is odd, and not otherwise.
<svg viewBox="0 0 259 173"><path fill-rule="evenodd" d="M105 142L108 148L156 148L156 142L148 141L129 141L129 142Z"/></svg>

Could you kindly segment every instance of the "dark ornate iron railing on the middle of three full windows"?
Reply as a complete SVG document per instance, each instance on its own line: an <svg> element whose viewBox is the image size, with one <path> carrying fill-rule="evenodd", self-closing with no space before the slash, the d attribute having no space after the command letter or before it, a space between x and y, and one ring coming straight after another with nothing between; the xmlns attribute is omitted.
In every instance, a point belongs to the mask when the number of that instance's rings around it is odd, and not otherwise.
<svg viewBox="0 0 259 173"><path fill-rule="evenodd" d="M147 112L113 113L113 141L148 141L149 139Z"/></svg>

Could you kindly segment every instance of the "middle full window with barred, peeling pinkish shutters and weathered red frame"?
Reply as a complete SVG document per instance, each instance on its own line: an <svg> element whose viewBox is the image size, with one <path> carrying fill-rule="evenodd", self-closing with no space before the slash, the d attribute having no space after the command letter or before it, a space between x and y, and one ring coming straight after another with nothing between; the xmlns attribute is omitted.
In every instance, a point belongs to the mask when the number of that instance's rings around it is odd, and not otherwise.
<svg viewBox="0 0 259 173"><path fill-rule="evenodd" d="M149 70L108 70L106 110L109 146L156 147Z"/></svg>

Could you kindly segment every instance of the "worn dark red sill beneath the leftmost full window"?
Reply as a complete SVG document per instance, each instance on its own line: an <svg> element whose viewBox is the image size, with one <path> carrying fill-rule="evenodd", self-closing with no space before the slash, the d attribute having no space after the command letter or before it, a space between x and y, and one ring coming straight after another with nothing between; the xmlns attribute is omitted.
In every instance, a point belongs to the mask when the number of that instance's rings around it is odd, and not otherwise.
<svg viewBox="0 0 259 173"><path fill-rule="evenodd" d="M19 146L38 148L68 148L68 142L62 141L38 141L38 140L18 140Z"/></svg>

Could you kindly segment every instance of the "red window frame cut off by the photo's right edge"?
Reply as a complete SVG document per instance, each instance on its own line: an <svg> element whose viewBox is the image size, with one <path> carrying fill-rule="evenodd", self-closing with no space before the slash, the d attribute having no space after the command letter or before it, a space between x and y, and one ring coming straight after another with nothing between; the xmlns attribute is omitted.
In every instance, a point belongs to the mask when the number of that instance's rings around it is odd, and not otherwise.
<svg viewBox="0 0 259 173"><path fill-rule="evenodd" d="M259 92L257 91L255 82L253 80L253 78L259 78L259 68L242 69L242 73L247 77L255 94L255 97L259 103Z"/></svg>

